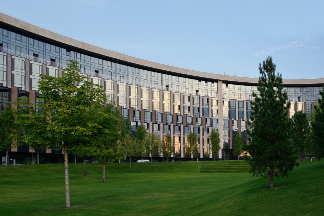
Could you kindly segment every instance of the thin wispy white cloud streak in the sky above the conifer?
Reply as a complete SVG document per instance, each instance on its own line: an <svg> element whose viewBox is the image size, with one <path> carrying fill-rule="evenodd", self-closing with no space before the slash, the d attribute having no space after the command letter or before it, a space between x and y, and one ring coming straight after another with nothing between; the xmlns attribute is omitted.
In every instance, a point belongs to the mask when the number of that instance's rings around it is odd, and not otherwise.
<svg viewBox="0 0 324 216"><path fill-rule="evenodd" d="M303 38L301 40L295 40L293 42L289 42L285 46L269 46L266 49L258 50L257 52L254 52L253 54L258 57L262 55L269 55L273 52L280 51L280 50L295 50L298 49L320 49L320 42L317 42L316 40L312 40L310 37Z"/></svg>

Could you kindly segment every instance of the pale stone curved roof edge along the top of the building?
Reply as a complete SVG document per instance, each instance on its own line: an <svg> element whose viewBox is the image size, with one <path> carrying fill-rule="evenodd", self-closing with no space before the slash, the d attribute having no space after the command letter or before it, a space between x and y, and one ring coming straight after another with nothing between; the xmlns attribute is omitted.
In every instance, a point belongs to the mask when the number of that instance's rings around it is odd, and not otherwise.
<svg viewBox="0 0 324 216"><path fill-rule="evenodd" d="M210 79L210 80L223 80L223 82L230 83L241 83L257 85L259 78L250 77L239 77L239 76L229 76L221 75L215 73L201 72L196 70L184 69L179 67L174 67L170 65L165 65L161 63L156 63L153 61L144 60L141 58L136 58L133 56L121 54L108 49L104 49L98 46L94 46L49 30L38 27L36 25L27 23L25 21L19 20L12 16L0 13L0 22L11 28L16 28L23 30L31 35L37 35L47 40L52 40L54 42L64 44L68 47L73 47L80 50L85 50L87 52L94 53L95 55L106 56L111 59L116 59L117 61L125 62L132 65L139 65L142 67L152 68L152 70L164 71L166 73L176 73L180 76L196 77L197 79ZM318 79L284 79L284 85L291 86L302 86L302 85L321 85L324 83L324 78Z"/></svg>

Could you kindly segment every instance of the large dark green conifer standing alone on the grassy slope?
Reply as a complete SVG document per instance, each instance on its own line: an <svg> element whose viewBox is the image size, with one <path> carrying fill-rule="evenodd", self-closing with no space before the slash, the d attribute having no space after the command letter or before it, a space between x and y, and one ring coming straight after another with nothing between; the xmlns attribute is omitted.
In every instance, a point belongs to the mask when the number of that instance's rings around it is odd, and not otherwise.
<svg viewBox="0 0 324 216"><path fill-rule="evenodd" d="M245 157L261 177L269 177L270 189L274 189L273 177L286 176L297 166L297 149L292 143L292 120L288 118L287 92L282 86L282 76L276 75L276 64L269 56L259 66L258 91L252 96L250 130L247 130L250 144L244 145L251 157Z"/></svg>

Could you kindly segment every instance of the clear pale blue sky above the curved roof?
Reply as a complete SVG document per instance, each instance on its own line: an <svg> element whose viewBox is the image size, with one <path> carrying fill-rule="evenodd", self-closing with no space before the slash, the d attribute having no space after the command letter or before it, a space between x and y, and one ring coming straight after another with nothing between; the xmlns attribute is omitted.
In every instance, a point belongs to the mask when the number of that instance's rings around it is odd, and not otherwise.
<svg viewBox="0 0 324 216"><path fill-rule="evenodd" d="M48 30L167 65L284 79L324 77L324 1L11 0L0 11Z"/></svg>

